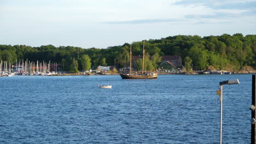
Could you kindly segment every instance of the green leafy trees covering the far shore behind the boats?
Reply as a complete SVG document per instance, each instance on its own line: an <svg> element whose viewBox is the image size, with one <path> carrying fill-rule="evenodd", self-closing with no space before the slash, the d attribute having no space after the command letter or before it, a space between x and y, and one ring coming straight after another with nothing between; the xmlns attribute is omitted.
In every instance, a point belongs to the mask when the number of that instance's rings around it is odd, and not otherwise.
<svg viewBox="0 0 256 144"><path fill-rule="evenodd" d="M132 55L142 55L143 41L132 43ZM162 39L146 40L147 55L179 55L187 69L240 70L243 66L256 67L256 35L243 36L240 33L220 36L199 37L198 35L176 35ZM28 59L30 61L51 61L61 63L63 70L86 70L98 65L124 67L129 61L130 44L111 46L107 49L82 49L74 46L46 45L31 47L26 45L0 45L0 61L12 63ZM156 57L159 62L159 58ZM138 65L139 61L138 61ZM148 64L154 65L154 63Z"/></svg>

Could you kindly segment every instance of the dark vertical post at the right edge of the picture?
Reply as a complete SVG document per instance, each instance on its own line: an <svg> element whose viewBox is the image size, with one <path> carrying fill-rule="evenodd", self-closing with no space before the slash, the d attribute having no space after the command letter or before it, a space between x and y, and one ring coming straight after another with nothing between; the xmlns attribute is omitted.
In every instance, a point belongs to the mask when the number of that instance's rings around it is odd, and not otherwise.
<svg viewBox="0 0 256 144"><path fill-rule="evenodd" d="M255 103L255 97L256 97L256 95L255 95L255 93L256 93L256 77L255 77L255 75L252 75L252 106L255 106L256 105L256 103ZM252 107L251 106L251 107ZM254 118L255 119L255 116L256 116L256 110L255 109L251 109L252 110L252 119ZM255 128L255 126L256 126L256 124L255 124L255 122L253 123L252 122L252 131L251 131L251 143L252 144L256 144L255 142L255 137L256 137L256 128Z"/></svg>

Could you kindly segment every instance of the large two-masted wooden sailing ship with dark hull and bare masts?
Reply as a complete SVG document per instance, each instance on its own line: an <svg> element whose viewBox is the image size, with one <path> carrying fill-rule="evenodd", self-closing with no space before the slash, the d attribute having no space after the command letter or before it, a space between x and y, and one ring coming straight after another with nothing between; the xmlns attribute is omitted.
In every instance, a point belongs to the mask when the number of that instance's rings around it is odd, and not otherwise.
<svg viewBox="0 0 256 144"><path fill-rule="evenodd" d="M145 41L143 41L143 63L142 63L142 71L132 71L132 51L130 46L130 73L129 74L120 74L122 79L158 79L158 74L153 72L144 71L144 45Z"/></svg>

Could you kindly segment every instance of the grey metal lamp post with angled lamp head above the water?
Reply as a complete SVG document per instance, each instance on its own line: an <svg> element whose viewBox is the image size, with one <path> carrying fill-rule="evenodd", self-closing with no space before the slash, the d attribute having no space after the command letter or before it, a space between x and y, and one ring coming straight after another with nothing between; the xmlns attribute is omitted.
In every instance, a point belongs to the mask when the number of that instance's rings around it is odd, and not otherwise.
<svg viewBox="0 0 256 144"><path fill-rule="evenodd" d="M234 85L238 84L239 80L228 80L228 81L222 81L219 82L219 90L217 90L217 95L219 95L219 101L220 101L220 124L219 124L219 143L222 144L222 89L223 85Z"/></svg>

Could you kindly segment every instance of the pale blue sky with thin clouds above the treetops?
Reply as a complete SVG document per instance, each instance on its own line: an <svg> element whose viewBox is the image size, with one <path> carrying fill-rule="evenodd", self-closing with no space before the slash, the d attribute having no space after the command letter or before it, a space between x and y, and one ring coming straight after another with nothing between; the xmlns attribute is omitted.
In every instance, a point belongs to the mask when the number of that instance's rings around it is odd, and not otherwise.
<svg viewBox="0 0 256 144"><path fill-rule="evenodd" d="M256 0L0 0L0 44L123 45L174 35L256 34Z"/></svg>

